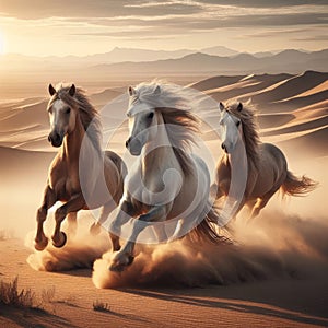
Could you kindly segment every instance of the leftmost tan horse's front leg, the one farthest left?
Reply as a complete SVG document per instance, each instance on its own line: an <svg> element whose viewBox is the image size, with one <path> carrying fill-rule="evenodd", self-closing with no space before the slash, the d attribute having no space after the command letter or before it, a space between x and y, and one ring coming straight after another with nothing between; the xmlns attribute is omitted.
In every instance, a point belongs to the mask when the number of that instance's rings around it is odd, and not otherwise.
<svg viewBox="0 0 328 328"><path fill-rule="evenodd" d="M44 250L48 245L48 238L44 232L44 222L47 219L48 209L51 208L56 202L56 195L54 190L47 186L44 194L44 200L42 207L37 210L37 232L34 238L34 247L36 250Z"/></svg>

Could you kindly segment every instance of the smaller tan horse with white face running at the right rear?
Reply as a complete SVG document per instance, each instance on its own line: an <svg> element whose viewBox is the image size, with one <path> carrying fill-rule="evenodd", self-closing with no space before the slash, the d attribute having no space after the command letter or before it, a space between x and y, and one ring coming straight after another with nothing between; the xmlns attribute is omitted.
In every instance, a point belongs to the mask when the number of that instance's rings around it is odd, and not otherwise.
<svg viewBox="0 0 328 328"><path fill-rule="evenodd" d="M290 196L302 196L315 189L317 184L311 178L305 175L297 177L288 169L286 159L278 147L260 141L256 110L250 102L220 103L219 109L224 154L218 163L215 183L211 187L216 200L229 195L232 166L238 167L242 163L233 160L238 159L241 148L244 148L247 157L245 190L232 219L246 204L250 209L248 222L251 221L279 189Z"/></svg>

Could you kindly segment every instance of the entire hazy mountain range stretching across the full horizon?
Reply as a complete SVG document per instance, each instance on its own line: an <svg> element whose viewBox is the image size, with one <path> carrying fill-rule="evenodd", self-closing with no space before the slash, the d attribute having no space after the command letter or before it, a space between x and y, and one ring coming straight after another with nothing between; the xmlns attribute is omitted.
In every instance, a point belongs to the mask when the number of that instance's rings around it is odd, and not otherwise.
<svg viewBox="0 0 328 328"><path fill-rule="evenodd" d="M256 54L237 52L222 46L201 49L148 50L114 48L106 54L85 57L27 57L4 55L0 57L0 72L56 72L79 70L79 75L94 78L98 74L141 77L150 74L245 74L297 73L304 70L328 71L328 49L305 51L288 49Z"/></svg>

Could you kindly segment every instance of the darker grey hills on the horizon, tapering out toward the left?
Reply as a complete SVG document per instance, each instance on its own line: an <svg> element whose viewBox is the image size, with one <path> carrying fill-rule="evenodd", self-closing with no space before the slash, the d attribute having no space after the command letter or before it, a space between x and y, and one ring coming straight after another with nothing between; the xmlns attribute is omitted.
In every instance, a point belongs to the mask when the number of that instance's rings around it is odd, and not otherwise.
<svg viewBox="0 0 328 328"><path fill-rule="evenodd" d="M103 71L112 73L295 73L304 70L328 71L328 49L302 52L298 50L284 50L270 57L257 58L249 54L239 54L234 57L220 57L202 52L190 54L178 59L165 59L144 62L120 62L113 65L98 65L89 68L89 71Z"/></svg>

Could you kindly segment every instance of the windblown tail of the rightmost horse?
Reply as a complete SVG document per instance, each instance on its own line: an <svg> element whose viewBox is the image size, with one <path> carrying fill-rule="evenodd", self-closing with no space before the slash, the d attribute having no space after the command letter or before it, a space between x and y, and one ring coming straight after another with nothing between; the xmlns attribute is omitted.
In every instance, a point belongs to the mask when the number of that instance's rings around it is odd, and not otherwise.
<svg viewBox="0 0 328 328"><path fill-rule="evenodd" d="M317 187L317 183L307 176L297 177L288 171L286 178L281 186L282 192L290 196L302 196Z"/></svg>

